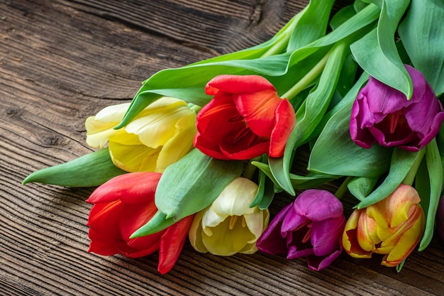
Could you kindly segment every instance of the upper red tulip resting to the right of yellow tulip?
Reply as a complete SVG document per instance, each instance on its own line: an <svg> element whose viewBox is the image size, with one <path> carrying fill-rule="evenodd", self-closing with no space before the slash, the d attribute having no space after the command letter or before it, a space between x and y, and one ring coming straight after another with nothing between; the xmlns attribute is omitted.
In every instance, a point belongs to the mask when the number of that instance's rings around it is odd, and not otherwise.
<svg viewBox="0 0 444 296"><path fill-rule="evenodd" d="M221 160L279 158L294 127L292 104L256 75L220 75L206 84L214 95L196 118L194 146Z"/></svg>

